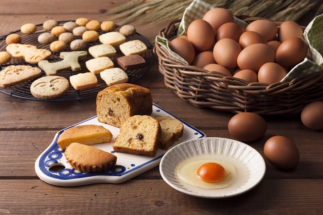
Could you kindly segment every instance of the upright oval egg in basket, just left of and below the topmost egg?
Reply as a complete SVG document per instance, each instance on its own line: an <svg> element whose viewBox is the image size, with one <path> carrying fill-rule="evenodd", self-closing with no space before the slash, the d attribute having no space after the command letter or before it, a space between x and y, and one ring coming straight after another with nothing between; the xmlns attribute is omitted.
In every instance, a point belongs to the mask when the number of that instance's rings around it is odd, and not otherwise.
<svg viewBox="0 0 323 215"><path fill-rule="evenodd" d="M191 22L187 28L187 38L193 44L194 48L199 51L206 51L214 44L212 26L202 19Z"/></svg>

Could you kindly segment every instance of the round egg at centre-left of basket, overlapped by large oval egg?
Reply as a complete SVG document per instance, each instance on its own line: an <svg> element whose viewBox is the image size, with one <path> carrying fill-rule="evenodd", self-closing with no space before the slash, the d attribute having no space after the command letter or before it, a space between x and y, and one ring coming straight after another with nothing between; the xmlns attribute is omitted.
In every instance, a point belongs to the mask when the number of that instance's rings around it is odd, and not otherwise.
<svg viewBox="0 0 323 215"><path fill-rule="evenodd" d="M213 57L218 64L229 69L238 66L237 58L241 52L239 43L230 38L219 40L213 48Z"/></svg>

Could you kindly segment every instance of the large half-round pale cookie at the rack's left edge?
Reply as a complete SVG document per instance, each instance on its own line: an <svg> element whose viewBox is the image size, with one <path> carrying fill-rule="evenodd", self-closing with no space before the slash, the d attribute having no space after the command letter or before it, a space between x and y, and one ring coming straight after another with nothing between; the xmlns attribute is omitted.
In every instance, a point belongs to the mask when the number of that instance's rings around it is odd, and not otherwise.
<svg viewBox="0 0 323 215"><path fill-rule="evenodd" d="M12 65L0 72L0 86L11 87L16 84L29 81L41 75L41 70L37 67L26 65Z"/></svg>

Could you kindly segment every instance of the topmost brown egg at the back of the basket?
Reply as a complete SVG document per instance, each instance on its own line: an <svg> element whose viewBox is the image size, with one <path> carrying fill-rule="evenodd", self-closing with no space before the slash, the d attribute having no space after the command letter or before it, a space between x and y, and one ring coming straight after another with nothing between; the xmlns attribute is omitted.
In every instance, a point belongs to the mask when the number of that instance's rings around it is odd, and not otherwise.
<svg viewBox="0 0 323 215"><path fill-rule="evenodd" d="M218 31L221 25L234 22L233 14L225 8L211 9L204 14L202 19L211 24L214 33Z"/></svg>

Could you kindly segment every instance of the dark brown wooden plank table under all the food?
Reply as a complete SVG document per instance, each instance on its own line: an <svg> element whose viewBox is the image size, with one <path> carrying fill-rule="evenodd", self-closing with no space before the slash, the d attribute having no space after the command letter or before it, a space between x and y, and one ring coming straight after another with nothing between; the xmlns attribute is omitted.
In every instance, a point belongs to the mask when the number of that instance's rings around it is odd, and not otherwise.
<svg viewBox="0 0 323 215"><path fill-rule="evenodd" d="M7 0L0 7L0 35L20 29L22 24L39 24L48 19L109 20L102 13L124 2L127 1ZM300 23L307 24L311 15ZM146 28L137 22L131 24L152 44L158 31L166 26L162 23ZM150 71L136 84L151 90L154 103L208 137L234 139L228 131L228 122L234 115L198 109L178 98L165 87L157 57ZM263 156L263 145L268 138L289 137L300 152L296 168L277 169L265 159L264 179L251 191L226 199L202 199L170 187L161 178L158 167L122 184L49 185L35 173L36 158L58 131L96 115L95 98L43 102L0 93L0 103L0 214L323 214L323 133L307 129L299 116L264 117L267 132L249 143Z"/></svg>

